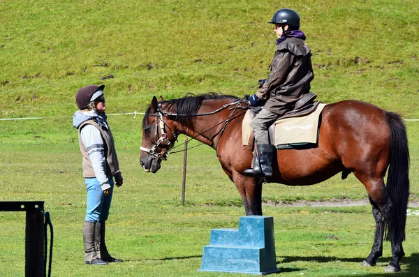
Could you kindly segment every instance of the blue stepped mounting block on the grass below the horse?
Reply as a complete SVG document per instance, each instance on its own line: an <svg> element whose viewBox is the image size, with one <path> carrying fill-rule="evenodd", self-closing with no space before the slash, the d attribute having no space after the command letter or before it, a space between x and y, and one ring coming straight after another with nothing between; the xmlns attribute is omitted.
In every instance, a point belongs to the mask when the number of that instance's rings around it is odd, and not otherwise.
<svg viewBox="0 0 419 277"><path fill-rule="evenodd" d="M242 216L239 229L211 230L198 271L264 275L279 272L275 255L274 218Z"/></svg>

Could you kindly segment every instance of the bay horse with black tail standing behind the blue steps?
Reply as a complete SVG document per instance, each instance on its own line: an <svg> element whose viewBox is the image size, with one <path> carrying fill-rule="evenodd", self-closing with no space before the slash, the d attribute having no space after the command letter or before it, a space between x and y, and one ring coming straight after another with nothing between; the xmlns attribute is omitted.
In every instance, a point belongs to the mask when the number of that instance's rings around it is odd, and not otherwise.
<svg viewBox="0 0 419 277"><path fill-rule="evenodd" d="M251 167L252 149L237 143L242 141L242 120L248 108L245 98L221 93L186 94L172 100L154 96L142 121L141 167L156 173L177 136L187 135L216 150L246 214L262 215L263 182L244 175ZM399 114L359 100L330 103L321 112L318 143L307 149L277 150L276 159L269 181L288 186L318 184L339 172L345 179L352 172L367 190L376 222L371 253L361 265L376 265L385 238L392 249L385 271L401 270L410 157L406 126Z"/></svg>

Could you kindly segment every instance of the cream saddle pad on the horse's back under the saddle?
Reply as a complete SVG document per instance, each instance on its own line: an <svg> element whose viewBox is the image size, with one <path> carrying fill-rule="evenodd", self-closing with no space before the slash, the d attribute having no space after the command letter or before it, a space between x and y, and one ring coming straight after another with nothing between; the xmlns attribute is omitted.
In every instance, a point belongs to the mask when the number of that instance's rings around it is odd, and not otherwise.
<svg viewBox="0 0 419 277"><path fill-rule="evenodd" d="M320 103L317 109L304 117L291 117L275 121L275 145L295 143L316 143L318 119L324 103ZM251 135L250 110L247 110L242 121L242 144L249 145Z"/></svg>

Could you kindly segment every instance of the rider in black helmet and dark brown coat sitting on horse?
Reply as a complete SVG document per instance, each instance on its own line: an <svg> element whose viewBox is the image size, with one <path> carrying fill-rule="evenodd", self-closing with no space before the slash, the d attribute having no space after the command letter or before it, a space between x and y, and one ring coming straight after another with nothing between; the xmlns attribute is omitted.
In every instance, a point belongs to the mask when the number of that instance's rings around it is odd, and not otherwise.
<svg viewBox="0 0 419 277"><path fill-rule="evenodd" d="M272 159L276 147L270 144L267 129L278 119L293 110L297 100L310 91L314 78L310 48L306 36L300 30L300 16L288 8L277 11L268 22L274 24L277 50L272 59L270 75L255 94L249 96L252 106L263 105L263 109L251 122L260 170L248 169L245 173L255 177L272 176Z"/></svg>

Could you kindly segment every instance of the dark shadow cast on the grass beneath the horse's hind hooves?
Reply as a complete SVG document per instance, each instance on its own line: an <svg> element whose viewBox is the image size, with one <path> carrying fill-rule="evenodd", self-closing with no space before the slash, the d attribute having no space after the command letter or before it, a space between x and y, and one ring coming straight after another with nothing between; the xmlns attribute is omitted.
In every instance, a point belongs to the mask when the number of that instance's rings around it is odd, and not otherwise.
<svg viewBox="0 0 419 277"><path fill-rule="evenodd" d="M292 272L292 271L300 271L302 269L288 269L288 268L284 268L281 267L281 264L285 264L287 262L297 262L297 261L302 261L302 262L334 262L339 260L340 262L359 262L361 263L364 258L343 258L340 259L339 257L286 257L286 256L279 256L281 258L283 258L284 260L282 260L281 262L277 262L277 265L279 267L279 269L281 269L281 272ZM388 261L390 262L391 257L381 257L378 259L378 262L385 262ZM402 272L398 273L397 276L402 277L402 276L418 276L418 272L419 272L419 253L413 253L411 256L409 257L403 257L402 260L400 261L400 265L402 267ZM407 269L404 269L406 268ZM357 274L357 276L363 276L363 277L388 277L388 273L384 273L384 268L383 267L383 274ZM404 270L403 270L404 269ZM353 275L348 275L348 276L353 276Z"/></svg>

